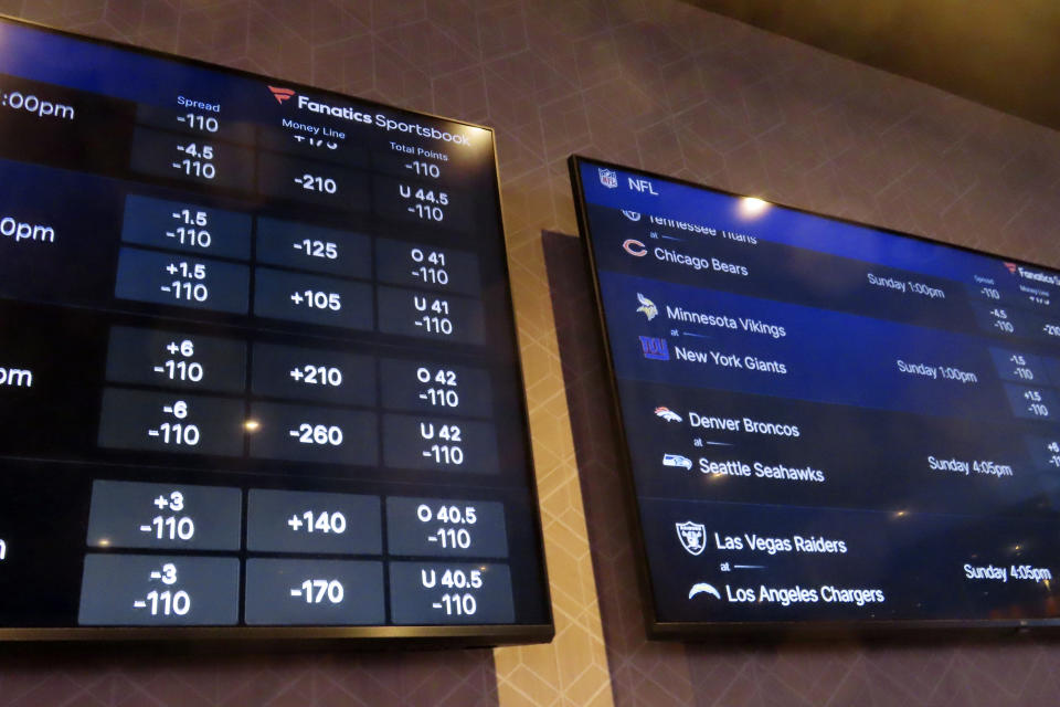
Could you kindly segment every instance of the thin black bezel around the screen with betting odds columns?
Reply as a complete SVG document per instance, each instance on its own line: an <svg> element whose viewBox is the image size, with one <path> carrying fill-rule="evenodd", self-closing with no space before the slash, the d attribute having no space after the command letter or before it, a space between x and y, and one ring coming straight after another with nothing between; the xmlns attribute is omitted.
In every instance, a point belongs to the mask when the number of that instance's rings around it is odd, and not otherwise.
<svg viewBox="0 0 1060 707"><path fill-rule="evenodd" d="M76 41L87 42L92 44L98 44L104 46L110 46L114 49L132 52L142 55L155 56L169 62L176 62L184 66L195 66L199 68L205 68L209 71L220 72L227 75L243 76L254 81L269 82L275 81L275 78L266 76L264 74L256 74L254 72L247 72L237 68L229 68L226 66L221 66L219 64L212 64L210 62L204 62L197 59L189 59L186 56L179 56L177 54L171 54L168 52L161 52L152 49L139 48L132 44L127 44L123 42L115 42L112 40L105 40L94 36L86 36L83 34L77 34L75 32L67 32L60 30L46 24L41 24L38 22L31 22L20 18L14 18L4 13L0 13L0 22L7 24L21 25L36 31L47 32L51 34L57 34L66 36ZM236 646L248 647L251 645L256 646L268 646L268 645L288 645L295 643L305 643L308 642L312 645L320 643L335 643L339 645L346 644L378 644L380 647L382 645L421 645L421 644L438 644L443 646L452 647L473 647L473 646L494 646L494 645L507 645L507 644L522 644L522 643L548 643L552 641L555 635L555 621L552 613L552 598L551 598L551 585L549 582L547 558L544 555L544 534L541 524L541 505L538 496L538 485L537 485L537 475L536 467L533 463L533 447L531 445L530 437L530 418L529 418L529 407L527 403L527 391L526 391L526 367L522 362L522 350L519 346L518 338L518 328L516 326L516 313L515 304L511 295L511 276L510 268L508 265L508 240L505 234L504 228L504 213L502 204L500 199L500 170L499 162L497 159L497 139L496 133L492 128L484 125L478 125L467 120L459 120L455 118L447 118L431 113L422 113L416 110L410 110L407 108L401 108L399 106L392 106L384 103L379 103L377 101L369 101L365 98L358 98L356 96L349 96L336 91L328 91L325 88L318 88L309 84L303 84L294 81L284 80L285 85L289 85L293 88L298 91L307 91L314 94L319 94L321 96L331 96L340 101L356 101L361 104L375 106L379 108L399 110L402 113L414 114L417 116L423 116L427 118L434 118L437 120L445 120L447 123L453 123L457 125L465 125L468 127L479 128L486 130L489 134L490 146L494 156L494 197L496 199L496 225L497 230L501 235L501 250L505 254L502 263L502 272L506 287L505 296L507 298L507 310L510 314L512 328L511 336L509 338L510 345L513 349L513 360L517 367L517 376L522 384L518 386L518 398L520 401L521 410L519 411L522 419L522 436L523 444L526 450L526 466L527 469L527 479L526 483L530 490L530 500L533 504L533 509L530 515L533 518L533 528L532 531L536 535L536 547L537 547L537 558L536 561L540 568L541 574L541 595L542 601L544 602L544 611L548 616L548 623L533 623L533 624L462 624L462 625L413 625L413 626L393 626L393 625L380 625L380 626L290 626L290 627L252 627L252 626L232 626L232 627L156 627L156 626L145 626L145 627L60 627L60 629L44 629L44 627L28 627L28 629L11 629L11 627L0 627L0 643L2 642L47 642L47 643L83 643L83 642L114 642L114 643L128 643L128 642L148 642L148 643L159 643L159 642L192 642L192 641L211 641L214 643L231 643Z"/></svg>

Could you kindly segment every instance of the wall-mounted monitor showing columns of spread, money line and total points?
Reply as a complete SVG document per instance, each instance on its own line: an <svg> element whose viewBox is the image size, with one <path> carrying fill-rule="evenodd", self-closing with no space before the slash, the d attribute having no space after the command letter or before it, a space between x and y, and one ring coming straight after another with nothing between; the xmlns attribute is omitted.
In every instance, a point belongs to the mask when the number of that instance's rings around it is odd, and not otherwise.
<svg viewBox="0 0 1060 707"><path fill-rule="evenodd" d="M488 128L0 22L0 639L551 636Z"/></svg>

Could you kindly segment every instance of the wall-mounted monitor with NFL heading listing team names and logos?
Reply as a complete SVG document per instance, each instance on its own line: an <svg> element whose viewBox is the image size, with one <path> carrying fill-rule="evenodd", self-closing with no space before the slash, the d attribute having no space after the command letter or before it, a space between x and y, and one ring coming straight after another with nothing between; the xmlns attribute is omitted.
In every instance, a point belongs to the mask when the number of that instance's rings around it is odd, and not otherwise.
<svg viewBox="0 0 1060 707"><path fill-rule="evenodd" d="M573 159L654 635L1060 616L1060 273Z"/></svg>

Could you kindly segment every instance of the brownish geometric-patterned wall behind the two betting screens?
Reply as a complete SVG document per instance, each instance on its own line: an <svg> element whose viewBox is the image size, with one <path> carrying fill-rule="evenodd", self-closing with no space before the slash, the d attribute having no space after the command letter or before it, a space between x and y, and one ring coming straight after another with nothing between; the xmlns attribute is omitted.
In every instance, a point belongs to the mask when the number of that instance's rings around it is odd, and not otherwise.
<svg viewBox="0 0 1060 707"><path fill-rule="evenodd" d="M647 643L581 254L563 235L577 151L1060 266L1057 133L675 0L0 12L497 128L558 629L550 646L494 652L6 651L0 706L1057 703L1060 648L1041 642Z"/></svg>

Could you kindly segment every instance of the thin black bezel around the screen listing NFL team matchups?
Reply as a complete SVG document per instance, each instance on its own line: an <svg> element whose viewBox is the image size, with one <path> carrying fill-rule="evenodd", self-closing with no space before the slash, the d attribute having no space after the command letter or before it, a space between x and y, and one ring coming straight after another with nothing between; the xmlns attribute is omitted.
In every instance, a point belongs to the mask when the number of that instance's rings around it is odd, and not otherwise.
<svg viewBox="0 0 1060 707"><path fill-rule="evenodd" d="M628 520L628 527L630 530L630 540L634 548L635 563L637 566L637 582L640 588L640 606L644 615L645 625L647 629L648 637L660 641L690 641L690 640L704 640L711 637L724 637L731 636L733 634L744 634L751 636L760 636L766 639L809 639L816 640L820 637L835 637L842 636L848 634L855 634L858 636L894 636L894 635L905 635L905 634L916 634L924 636L937 637L939 631L947 631L951 634L975 634L975 635L987 635L987 634L1011 634L1016 632L1025 632L1034 630L1036 632L1045 632L1051 630L1052 633L1056 633L1056 629L1060 627L1060 618L1057 619L1027 619L1027 620L879 620L879 621L762 621L762 622L739 622L739 621L716 621L716 622L666 622L659 621L656 613L656 601L655 601L655 590L651 581L651 573L648 566L648 549L645 542L644 537L644 526L640 517L640 504L637 498L636 483L633 475L633 463L629 457L629 444L626 434L626 423L622 413L622 404L618 397L618 379L615 371L614 358L611 349L611 338L607 330L607 320L604 313L604 303L601 295L600 288L600 275L596 267L595 251L593 247L593 238L592 230L589 226L589 217L587 217L587 207L585 201L585 190L582 183L581 167L582 165L591 165L593 167L604 167L613 170L622 170L625 172L630 172L634 175L640 175L648 179L657 179L666 181L669 183L680 184L685 187L690 187L692 189L712 191L716 193L724 194L728 197L744 198L746 194L739 194L732 191L724 189L719 189L717 187L711 187L708 184L697 183L686 179L680 179L677 177L669 177L661 175L659 172L651 172L648 170L639 169L636 167L628 167L625 165L618 165L615 162L608 162L605 160L584 157L581 155L571 155L568 158L568 167L570 169L571 186L574 192L574 208L577 217L577 229L581 235L581 241L584 249L585 264L587 270L587 277L592 284L593 302L596 308L596 326L598 327L598 335L603 342L604 355L605 355L605 367L606 367L606 377L607 384L610 389L611 398L611 411L616 421L616 428L618 432L618 458L621 466L621 475L623 478L624 487L624 499L625 499L625 511ZM844 219L841 217L834 217L826 213L819 213L808 209L801 209L798 207L792 207L782 202L771 201L773 205L777 205L791 211L805 213L812 217L817 217L820 219L827 219L830 221L837 221L840 223L847 223L850 225L872 229L875 231L880 231L889 235L895 235L900 238L914 239L918 241L923 241L926 243L932 243L934 245L941 245L944 247L951 247L960 251L966 251L969 253L975 253L977 255L984 255L986 257L996 257L1003 258L1008 262L1027 265L1030 267L1048 270L1052 272L1058 272L1057 268L1050 267L1048 265L1042 265L1040 263L1035 263L1031 261L1025 261L1020 258L1009 257L1007 255L1000 255L997 253L992 253L989 251L978 250L974 247L967 247L964 245L956 245L953 243L946 243L936 239L931 239L923 235L916 235L914 233L907 233L903 231L898 231L894 229L888 229L886 226L873 225L870 223L865 223L861 221L855 221L852 219Z"/></svg>

